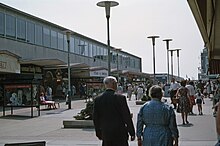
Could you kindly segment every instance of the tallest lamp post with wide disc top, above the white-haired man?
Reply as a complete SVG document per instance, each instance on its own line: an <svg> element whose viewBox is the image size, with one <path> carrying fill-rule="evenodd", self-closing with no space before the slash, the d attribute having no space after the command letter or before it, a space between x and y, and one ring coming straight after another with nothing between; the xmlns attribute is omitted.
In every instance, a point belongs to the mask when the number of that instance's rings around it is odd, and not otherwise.
<svg viewBox="0 0 220 146"><path fill-rule="evenodd" d="M107 18L107 44L108 44L108 75L111 74L111 54L110 54L110 34L109 34L109 18L110 18L110 8L119 5L115 1L101 1L97 3L99 7L105 7L106 18Z"/></svg>

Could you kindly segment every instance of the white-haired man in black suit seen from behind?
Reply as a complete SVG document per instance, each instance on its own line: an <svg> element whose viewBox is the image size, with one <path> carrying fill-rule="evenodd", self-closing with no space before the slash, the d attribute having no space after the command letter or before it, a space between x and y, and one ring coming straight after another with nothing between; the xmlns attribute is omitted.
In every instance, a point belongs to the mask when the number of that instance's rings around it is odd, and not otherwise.
<svg viewBox="0 0 220 146"><path fill-rule="evenodd" d="M93 122L102 146L128 146L128 134L135 139L135 130L127 100L116 94L117 80L113 76L103 80L106 90L94 99Z"/></svg>

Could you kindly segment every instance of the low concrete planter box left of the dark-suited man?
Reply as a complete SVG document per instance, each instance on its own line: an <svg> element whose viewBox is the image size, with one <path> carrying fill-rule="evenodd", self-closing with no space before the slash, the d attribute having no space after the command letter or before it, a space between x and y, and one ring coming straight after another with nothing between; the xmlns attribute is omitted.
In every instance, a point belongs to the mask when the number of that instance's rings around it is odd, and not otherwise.
<svg viewBox="0 0 220 146"><path fill-rule="evenodd" d="M94 128L92 120L63 120L64 128Z"/></svg>

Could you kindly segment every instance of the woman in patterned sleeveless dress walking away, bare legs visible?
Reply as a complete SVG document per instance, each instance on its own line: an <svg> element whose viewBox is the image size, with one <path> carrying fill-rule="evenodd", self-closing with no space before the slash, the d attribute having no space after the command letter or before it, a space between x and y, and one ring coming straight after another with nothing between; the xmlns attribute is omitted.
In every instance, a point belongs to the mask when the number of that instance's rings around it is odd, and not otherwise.
<svg viewBox="0 0 220 146"><path fill-rule="evenodd" d="M183 125L189 124L188 113L191 110L191 99L189 97L189 90L185 87L186 80L182 80L181 87L178 89L176 96L179 99L177 111L181 113Z"/></svg>

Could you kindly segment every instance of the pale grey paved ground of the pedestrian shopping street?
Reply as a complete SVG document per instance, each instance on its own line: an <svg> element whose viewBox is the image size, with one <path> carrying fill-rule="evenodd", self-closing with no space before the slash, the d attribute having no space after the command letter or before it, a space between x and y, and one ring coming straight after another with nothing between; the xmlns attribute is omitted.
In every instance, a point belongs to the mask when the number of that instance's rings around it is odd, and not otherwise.
<svg viewBox="0 0 220 146"><path fill-rule="evenodd" d="M167 99L168 104L170 102ZM190 124L181 125L180 114L177 113L177 123L180 132L180 146L214 146L216 143L215 119L212 116L212 103L205 99L203 116L189 116ZM136 125L137 113L141 105L136 105L134 98L128 101ZM68 110L64 102L55 110L42 110L40 117L30 118L29 109L17 109L14 115L2 117L0 112L0 146L12 142L29 142L45 140L47 146L101 146L101 141L95 137L94 129L64 129L62 122L71 119L85 108L84 100L72 101L72 109ZM45 109L42 106L42 109ZM197 113L197 107L194 106ZM35 109L34 115L37 115ZM137 141L130 141L130 146L136 146Z"/></svg>

